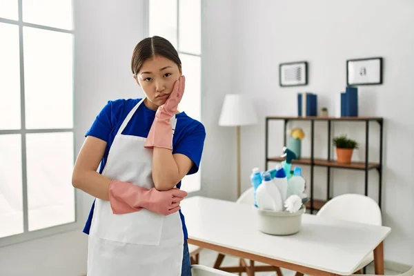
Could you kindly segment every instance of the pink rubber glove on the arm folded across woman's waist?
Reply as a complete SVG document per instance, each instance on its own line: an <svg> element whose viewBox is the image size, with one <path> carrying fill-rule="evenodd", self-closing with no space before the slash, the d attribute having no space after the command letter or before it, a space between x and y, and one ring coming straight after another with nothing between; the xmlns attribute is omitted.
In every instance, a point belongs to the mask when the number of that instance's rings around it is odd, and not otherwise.
<svg viewBox="0 0 414 276"><path fill-rule="evenodd" d="M159 191L141 188L128 182L112 180L109 185L109 201L116 215L137 212L146 208L153 213L170 215L177 212L181 200L188 195L184 190L172 188Z"/></svg>

